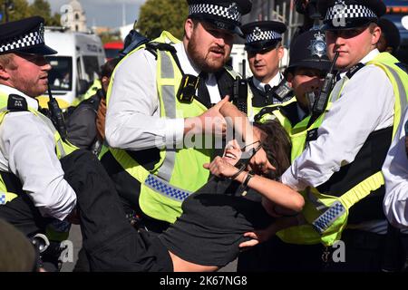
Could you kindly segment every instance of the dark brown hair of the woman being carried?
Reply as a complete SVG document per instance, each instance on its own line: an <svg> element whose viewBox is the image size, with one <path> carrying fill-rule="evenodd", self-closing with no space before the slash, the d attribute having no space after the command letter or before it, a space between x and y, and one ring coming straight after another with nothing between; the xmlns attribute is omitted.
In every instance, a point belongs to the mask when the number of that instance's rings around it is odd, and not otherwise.
<svg viewBox="0 0 408 290"><path fill-rule="evenodd" d="M254 126L265 133L261 141L262 149L267 153L267 160L277 168L268 178L277 179L290 166L292 143L289 135L277 120L266 121L265 123L255 122Z"/></svg>

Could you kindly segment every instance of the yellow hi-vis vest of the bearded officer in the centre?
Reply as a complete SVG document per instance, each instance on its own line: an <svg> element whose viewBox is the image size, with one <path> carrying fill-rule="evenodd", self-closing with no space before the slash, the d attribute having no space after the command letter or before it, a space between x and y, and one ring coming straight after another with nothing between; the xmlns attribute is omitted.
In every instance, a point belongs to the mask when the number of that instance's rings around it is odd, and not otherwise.
<svg viewBox="0 0 408 290"><path fill-rule="evenodd" d="M153 42L180 43L179 40L167 32L163 32ZM144 48L144 45L131 53L135 53L142 48ZM111 86L108 90L108 106L112 83L114 82L114 73L112 78ZM208 110L196 100L193 100L191 103L179 102L176 95L181 78L180 69L170 52L158 50L157 88L161 118L196 117ZM139 204L144 214L151 218L173 223L176 218L180 217L183 200L207 182L209 170L204 169L202 165L210 161L213 150L206 148L211 147L208 145L212 144L212 139L202 138L199 141L199 137L196 136L195 144L205 142L207 146L203 146L202 148L204 149L197 147L178 148L177 146L175 150L170 148L161 149L160 161L151 170L143 168L126 150L109 149L122 169L125 169L131 177L141 183ZM210 142L208 143L208 141Z"/></svg>

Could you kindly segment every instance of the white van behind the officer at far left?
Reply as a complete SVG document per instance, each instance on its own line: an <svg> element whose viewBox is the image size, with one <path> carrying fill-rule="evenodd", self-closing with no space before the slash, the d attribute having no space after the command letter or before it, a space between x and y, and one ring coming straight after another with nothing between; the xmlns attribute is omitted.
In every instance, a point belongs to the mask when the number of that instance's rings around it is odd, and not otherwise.
<svg viewBox="0 0 408 290"><path fill-rule="evenodd" d="M68 32L62 27L45 27L45 43L58 53L46 56L53 66L49 83L53 97L62 109L69 107L98 78L105 53L99 36ZM38 98L47 106L48 95Z"/></svg>

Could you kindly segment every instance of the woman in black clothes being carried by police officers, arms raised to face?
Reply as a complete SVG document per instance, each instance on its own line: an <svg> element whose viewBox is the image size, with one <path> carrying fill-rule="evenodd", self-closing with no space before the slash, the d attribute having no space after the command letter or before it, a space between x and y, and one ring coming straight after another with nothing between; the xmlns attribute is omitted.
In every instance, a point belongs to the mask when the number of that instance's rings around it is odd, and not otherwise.
<svg viewBox="0 0 408 290"><path fill-rule="evenodd" d="M78 197L92 270L216 271L238 256L239 245L251 245L253 234L244 234L265 228L276 232L296 223L293 217L276 218L277 211L293 215L304 205L300 194L274 180L290 165L284 129L271 121L256 124L252 135L248 120L232 104L220 112L231 117L248 145L241 150L232 140L222 158L204 165L213 177L184 200L182 215L162 234L131 227L109 178L105 190ZM242 153L249 159L241 160ZM257 164L265 156L270 164Z"/></svg>

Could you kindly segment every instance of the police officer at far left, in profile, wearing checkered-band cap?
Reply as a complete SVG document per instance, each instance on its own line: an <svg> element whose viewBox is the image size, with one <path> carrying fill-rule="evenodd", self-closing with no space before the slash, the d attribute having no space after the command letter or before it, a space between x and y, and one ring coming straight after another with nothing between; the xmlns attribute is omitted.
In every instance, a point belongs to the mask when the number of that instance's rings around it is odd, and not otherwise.
<svg viewBox="0 0 408 290"><path fill-rule="evenodd" d="M0 218L27 237L46 232L57 246L68 237L65 219L75 215L76 195L59 160L75 149L35 99L47 91L51 65L44 55L54 53L44 43L42 17L0 26ZM48 270L56 269L55 258Z"/></svg>

